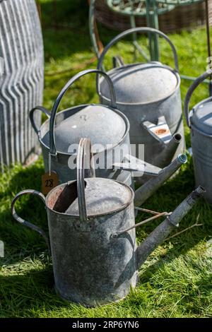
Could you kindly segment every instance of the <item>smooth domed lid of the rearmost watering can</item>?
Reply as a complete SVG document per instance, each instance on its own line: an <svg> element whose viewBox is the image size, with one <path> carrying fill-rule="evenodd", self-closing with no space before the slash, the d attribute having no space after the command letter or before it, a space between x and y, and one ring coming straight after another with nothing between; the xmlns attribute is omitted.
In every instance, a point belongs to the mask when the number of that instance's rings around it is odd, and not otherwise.
<svg viewBox="0 0 212 332"><path fill-rule="evenodd" d="M160 63L133 64L107 72L112 78L117 102L145 104L155 102L174 93L179 83L177 73ZM100 79L100 93L110 100L104 78Z"/></svg>

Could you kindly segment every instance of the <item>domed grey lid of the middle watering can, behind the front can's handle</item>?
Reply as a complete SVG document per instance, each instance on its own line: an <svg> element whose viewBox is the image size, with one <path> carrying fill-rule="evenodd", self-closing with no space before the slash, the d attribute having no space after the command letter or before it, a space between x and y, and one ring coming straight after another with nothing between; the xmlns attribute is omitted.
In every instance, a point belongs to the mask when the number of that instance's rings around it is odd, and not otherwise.
<svg viewBox="0 0 212 332"><path fill-rule="evenodd" d="M62 119L55 126L54 137L57 151L67 153L71 144L78 144L81 137L90 138L92 145L98 144L99 147L104 148L107 144L117 144L126 133L126 122L124 115L121 116L121 113L114 112L110 107L88 105L66 119ZM49 132L42 141L49 146ZM93 153L95 153L95 147L93 147Z"/></svg>

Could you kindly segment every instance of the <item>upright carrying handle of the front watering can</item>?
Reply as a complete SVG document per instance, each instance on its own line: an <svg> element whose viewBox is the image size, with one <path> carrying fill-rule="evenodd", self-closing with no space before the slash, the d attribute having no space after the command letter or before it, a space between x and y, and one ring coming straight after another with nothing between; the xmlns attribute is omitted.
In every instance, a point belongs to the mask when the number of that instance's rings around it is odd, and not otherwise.
<svg viewBox="0 0 212 332"><path fill-rule="evenodd" d="M88 220L84 179L85 162L87 162L87 165L90 167L90 176L95 177L95 167L93 165L93 154L91 152L90 138L81 138L78 144L78 153L76 158L78 211L81 221Z"/></svg>

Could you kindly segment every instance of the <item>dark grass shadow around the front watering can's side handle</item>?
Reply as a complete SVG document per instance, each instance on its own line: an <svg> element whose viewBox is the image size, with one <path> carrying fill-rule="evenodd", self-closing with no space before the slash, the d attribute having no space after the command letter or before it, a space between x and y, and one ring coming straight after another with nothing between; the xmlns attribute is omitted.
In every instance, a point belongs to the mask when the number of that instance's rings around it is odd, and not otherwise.
<svg viewBox="0 0 212 332"><path fill-rule="evenodd" d="M9 171L8 171L9 172ZM13 170L12 170L13 172ZM11 201L19 191L36 189L40 191L42 163L18 169L10 179L10 184L1 192L0 235L5 246L5 257L1 264L21 261L24 256L38 254L47 249L44 239L35 231L20 225L11 215ZM23 196L16 202L16 212L20 217L42 227L48 233L47 214L44 203L36 196Z"/></svg>

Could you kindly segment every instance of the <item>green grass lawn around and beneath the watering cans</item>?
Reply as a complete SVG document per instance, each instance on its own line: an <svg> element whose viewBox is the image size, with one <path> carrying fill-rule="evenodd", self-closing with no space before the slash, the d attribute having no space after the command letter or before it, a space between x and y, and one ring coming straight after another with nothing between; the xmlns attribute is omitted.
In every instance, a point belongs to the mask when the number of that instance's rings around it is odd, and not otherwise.
<svg viewBox="0 0 212 332"><path fill-rule="evenodd" d="M44 106L51 109L57 93L78 71L95 68L93 49L88 32L85 1L59 1L57 21L66 28L54 30L51 0L42 0L42 23L45 42ZM81 5L81 6L80 6ZM100 27L104 44L117 32ZM206 32L195 29L170 35L177 47L181 73L198 76L206 70ZM146 45L146 39L141 39ZM108 54L121 54L126 62L133 59L130 40L119 42ZM173 65L169 46L161 42L162 60ZM64 73L57 74L59 71ZM182 81L182 98L189 87ZM194 105L208 95L207 85L199 88ZM86 76L66 93L61 109L86 102L98 102L95 76ZM185 127L186 128L186 127ZM186 128L187 146L189 130ZM42 158L30 167L16 165L0 175L0 239L5 243L5 257L0 259L0 317L208 317L212 316L212 207L203 200L193 208L176 232L193 227L163 243L140 268L140 280L125 300L103 307L88 309L64 302L54 292L52 263L42 237L21 227L11 217L11 199L23 189L41 187L44 172ZM194 189L192 160L157 191L145 204L155 211L172 211ZM24 197L17 203L18 213L31 223L47 230L45 208L37 198ZM147 218L139 213L136 221ZM158 225L153 221L137 230L138 242Z"/></svg>

